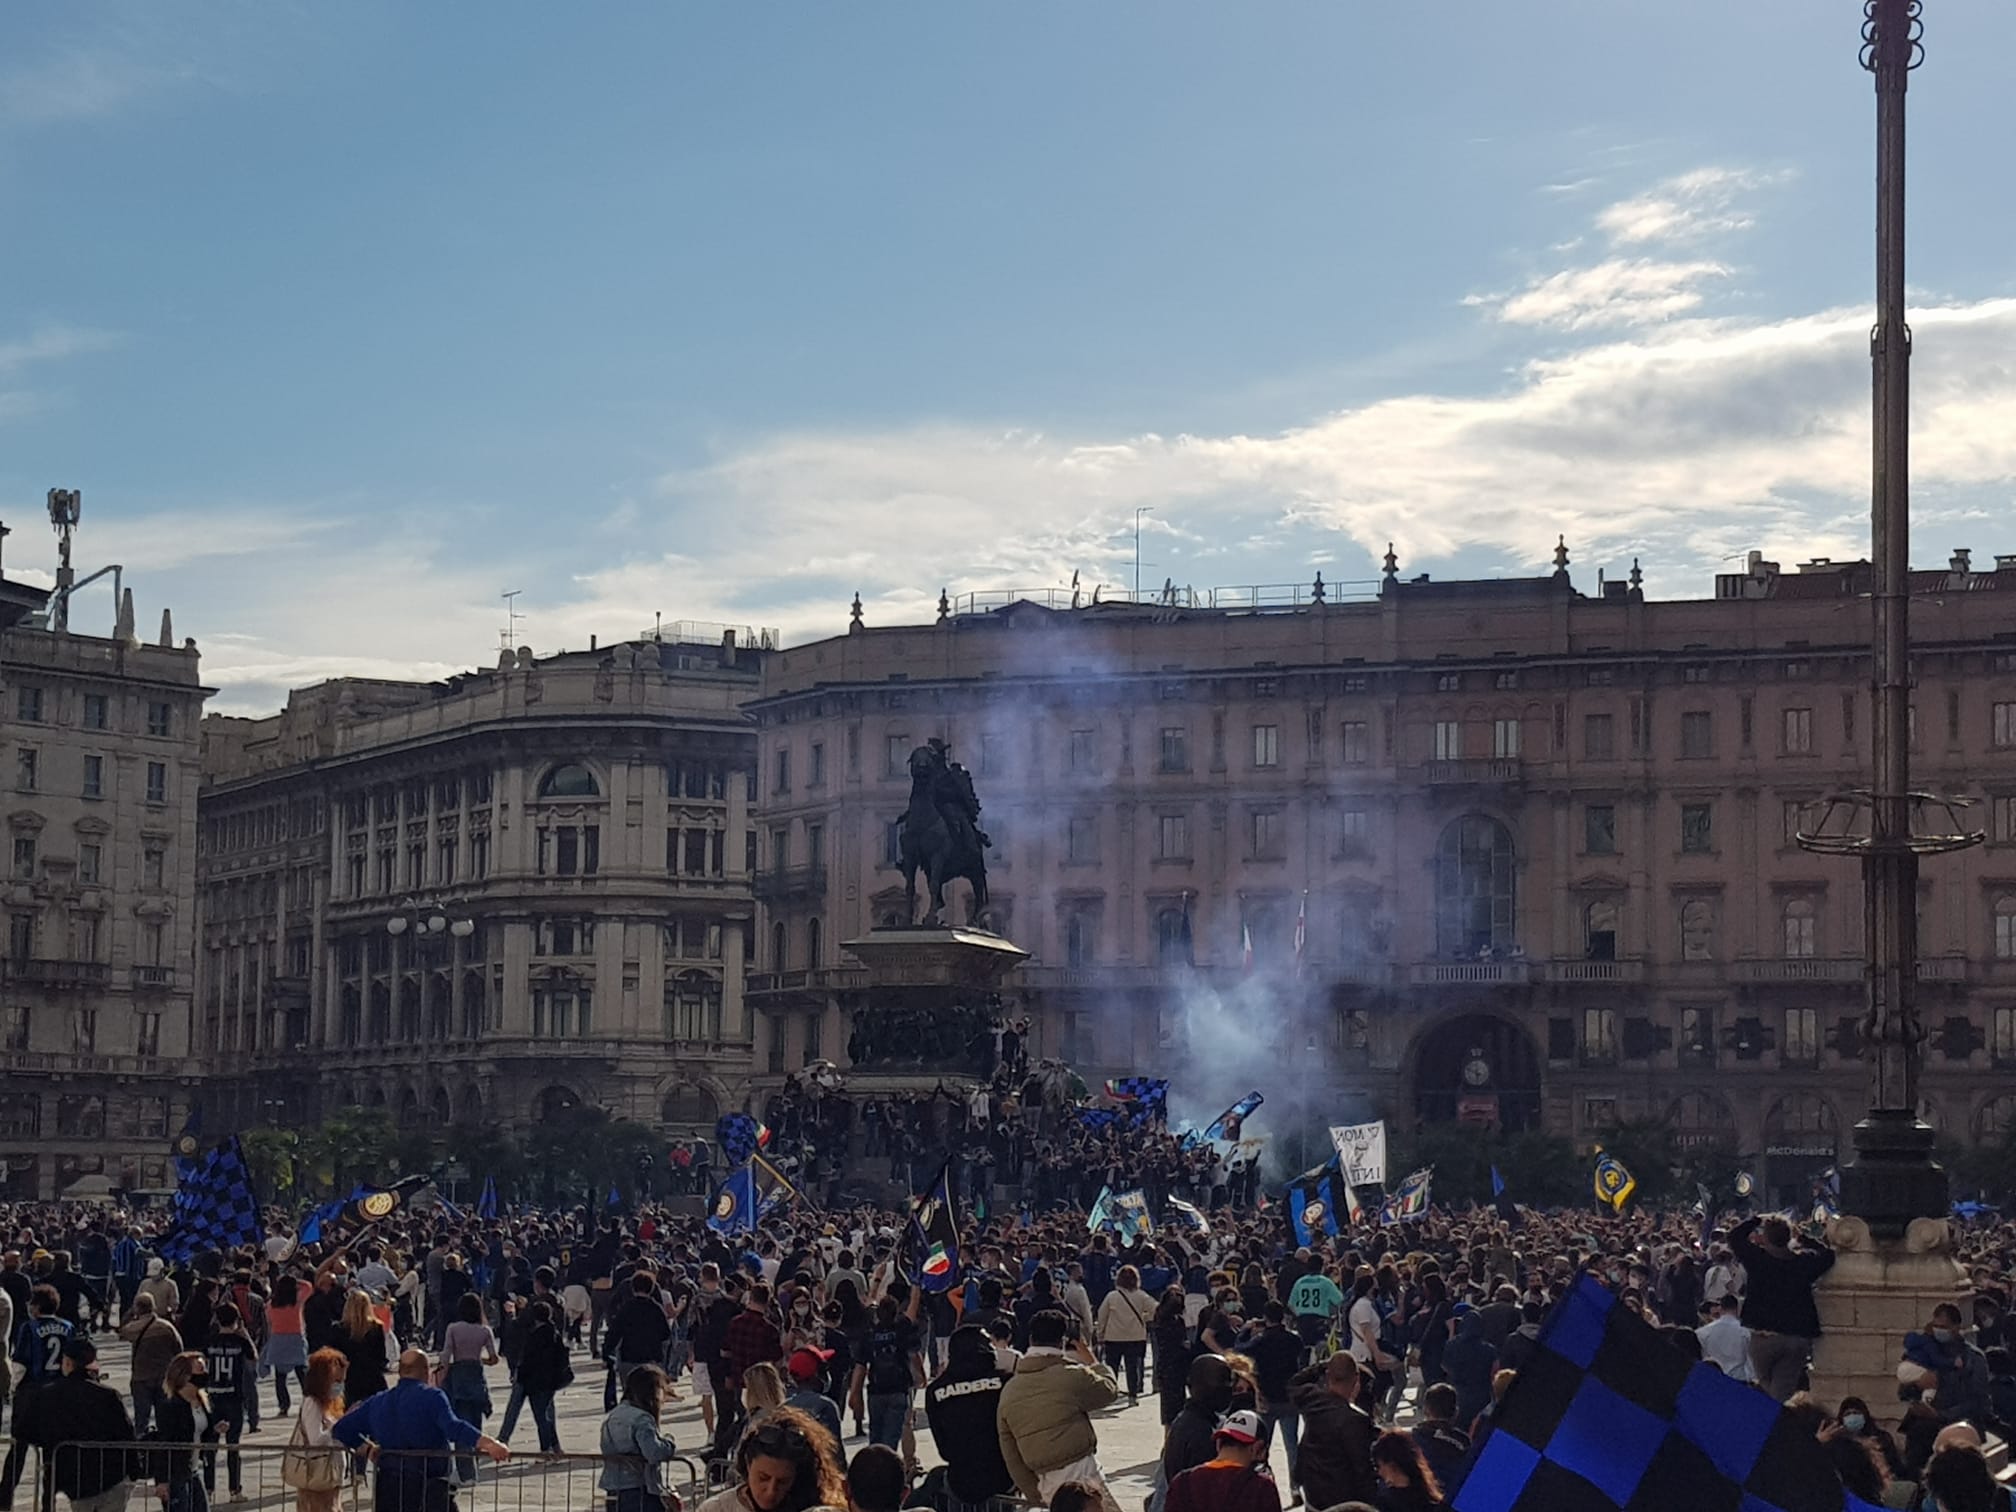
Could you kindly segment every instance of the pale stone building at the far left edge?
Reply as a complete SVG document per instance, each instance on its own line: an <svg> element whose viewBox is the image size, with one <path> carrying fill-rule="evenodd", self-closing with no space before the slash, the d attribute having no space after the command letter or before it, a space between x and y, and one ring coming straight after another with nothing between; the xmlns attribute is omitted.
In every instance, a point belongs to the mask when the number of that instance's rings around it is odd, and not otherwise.
<svg viewBox="0 0 2016 1512"><path fill-rule="evenodd" d="M0 1195L165 1187L190 1056L196 643L50 629L0 581Z"/></svg>

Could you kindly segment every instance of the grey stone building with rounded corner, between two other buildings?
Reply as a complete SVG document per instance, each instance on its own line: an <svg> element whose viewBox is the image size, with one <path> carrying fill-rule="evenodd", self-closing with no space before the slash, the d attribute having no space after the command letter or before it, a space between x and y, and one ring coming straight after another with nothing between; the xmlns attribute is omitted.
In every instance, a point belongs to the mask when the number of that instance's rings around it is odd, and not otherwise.
<svg viewBox="0 0 2016 1512"><path fill-rule="evenodd" d="M208 720L196 1038L220 1123L712 1129L750 1064L750 639L518 649Z"/></svg>

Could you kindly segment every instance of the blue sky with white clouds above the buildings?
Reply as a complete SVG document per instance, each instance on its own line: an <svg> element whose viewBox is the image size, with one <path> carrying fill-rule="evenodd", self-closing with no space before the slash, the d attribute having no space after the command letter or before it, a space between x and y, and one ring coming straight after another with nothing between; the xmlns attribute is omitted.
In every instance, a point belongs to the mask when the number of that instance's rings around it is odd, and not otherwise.
<svg viewBox="0 0 2016 1512"><path fill-rule="evenodd" d="M2016 8L1913 75L1919 560L2016 552ZM214 710L939 589L1865 550L1853 0L0 16L0 518ZM1137 510L1147 510L1137 516ZM1726 571L1726 569L1724 569ZM101 583L73 623L109 633Z"/></svg>

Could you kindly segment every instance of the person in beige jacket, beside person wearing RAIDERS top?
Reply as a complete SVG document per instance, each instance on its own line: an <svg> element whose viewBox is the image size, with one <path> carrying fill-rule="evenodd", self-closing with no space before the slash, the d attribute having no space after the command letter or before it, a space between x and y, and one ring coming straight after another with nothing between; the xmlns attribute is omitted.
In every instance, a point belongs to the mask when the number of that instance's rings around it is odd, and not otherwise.
<svg viewBox="0 0 2016 1512"><path fill-rule="evenodd" d="M1073 1337L1064 1312L1038 1312L1028 1322L1028 1353L1002 1387L996 1429L1002 1460L1016 1488L1046 1506L1058 1486L1083 1482L1105 1490L1099 1429L1093 1413L1111 1407L1121 1387L1083 1337ZM1109 1512L1119 1512L1105 1492Z"/></svg>

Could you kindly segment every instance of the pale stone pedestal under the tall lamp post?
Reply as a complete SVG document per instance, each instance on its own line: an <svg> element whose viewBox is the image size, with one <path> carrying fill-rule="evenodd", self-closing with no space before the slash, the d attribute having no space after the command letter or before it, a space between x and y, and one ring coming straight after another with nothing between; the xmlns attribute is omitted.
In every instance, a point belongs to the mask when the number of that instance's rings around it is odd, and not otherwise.
<svg viewBox="0 0 2016 1512"><path fill-rule="evenodd" d="M1968 1274L1954 1260L1943 1218L1915 1218L1901 1240L1871 1236L1861 1218L1829 1224L1835 1268L1814 1286L1820 1339L1812 1349L1812 1393L1829 1409L1861 1397L1869 1411L1895 1427L1897 1361L1903 1337L1923 1329L1939 1302L1966 1306Z"/></svg>

